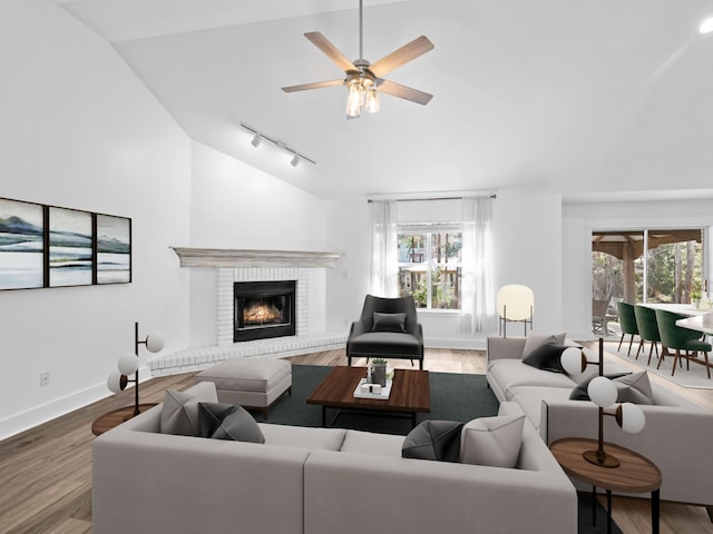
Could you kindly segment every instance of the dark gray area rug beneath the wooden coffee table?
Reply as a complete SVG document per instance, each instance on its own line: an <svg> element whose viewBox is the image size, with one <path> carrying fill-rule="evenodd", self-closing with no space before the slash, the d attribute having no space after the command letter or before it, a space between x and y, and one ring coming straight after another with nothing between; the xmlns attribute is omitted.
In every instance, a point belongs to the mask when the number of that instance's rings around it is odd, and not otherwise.
<svg viewBox="0 0 713 534"><path fill-rule="evenodd" d="M322 382L331 367L319 365L292 366L292 396L283 396L270 409L267 419L262 412L253 415L260 422L294 426L322 426L322 407L306 404L305 399ZM468 422L476 417L487 417L498 413L498 400L488 388L485 375L461 375L455 373L429 373L431 389L431 413L419 414L417 423L426 419L446 419ZM330 409L329 417L336 411ZM407 435L411 431L408 418L378 416L373 413L345 413L339 416L336 425L341 428ZM597 502L596 526L592 524L592 495L578 495L579 534L600 534L606 532L606 511ZM622 531L612 523L612 532Z"/></svg>

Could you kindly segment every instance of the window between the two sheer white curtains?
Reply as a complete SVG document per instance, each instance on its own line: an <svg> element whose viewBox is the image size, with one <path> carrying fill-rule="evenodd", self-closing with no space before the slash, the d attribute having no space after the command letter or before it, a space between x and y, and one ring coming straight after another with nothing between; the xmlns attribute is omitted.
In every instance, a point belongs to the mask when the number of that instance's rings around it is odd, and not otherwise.
<svg viewBox="0 0 713 534"><path fill-rule="evenodd" d="M399 225L399 293L423 309L460 309L462 230Z"/></svg>

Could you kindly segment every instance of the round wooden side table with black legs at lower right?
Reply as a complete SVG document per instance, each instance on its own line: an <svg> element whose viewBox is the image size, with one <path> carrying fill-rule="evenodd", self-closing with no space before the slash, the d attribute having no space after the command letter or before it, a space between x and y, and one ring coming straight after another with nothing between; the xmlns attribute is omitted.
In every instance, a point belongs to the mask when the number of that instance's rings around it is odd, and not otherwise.
<svg viewBox="0 0 713 534"><path fill-rule="evenodd" d="M626 447L605 443L607 454L618 458L618 467L602 467L587 462L583 453L596 451L597 441L584 437L565 437L549 445L553 455L565 473L587 484L592 484L594 502L596 488L606 491L607 533L612 532L612 492L647 493L651 492L652 532L658 534L658 496L661 488L661 471L645 456Z"/></svg>

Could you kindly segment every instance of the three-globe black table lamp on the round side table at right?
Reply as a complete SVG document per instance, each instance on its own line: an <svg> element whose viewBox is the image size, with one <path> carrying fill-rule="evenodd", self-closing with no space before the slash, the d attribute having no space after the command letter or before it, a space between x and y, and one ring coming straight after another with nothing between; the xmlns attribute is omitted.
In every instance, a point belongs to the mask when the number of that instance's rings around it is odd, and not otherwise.
<svg viewBox="0 0 713 534"><path fill-rule="evenodd" d="M615 417L616 424L629 434L636 434L644 428L646 419L642 408L633 403L617 403L618 392L609 378L604 376L604 338L599 338L599 359L589 362L580 347L569 347L561 353L561 365L572 376L579 376L587 368L587 365L598 365L599 374L594 377L587 386L587 394L594 404L599 407L599 433L596 451L585 451L582 456L590 464L599 467L618 467L619 461L616 456L604 449L604 416ZM613 412L605 412L613 409Z"/></svg>

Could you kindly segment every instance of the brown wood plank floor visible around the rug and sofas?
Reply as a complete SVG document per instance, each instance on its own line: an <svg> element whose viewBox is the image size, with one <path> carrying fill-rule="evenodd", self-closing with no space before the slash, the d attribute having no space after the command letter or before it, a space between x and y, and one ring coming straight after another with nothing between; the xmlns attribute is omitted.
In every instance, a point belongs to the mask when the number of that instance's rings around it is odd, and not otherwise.
<svg viewBox="0 0 713 534"><path fill-rule="evenodd" d="M343 350L290 359L294 364L346 364ZM410 367L409 362L392 363ZM356 362L360 364L363 362ZM426 350L424 368L429 370L484 374L485 364L482 352ZM664 382L666 387L682 392ZM154 378L141 384L141 402L162 402L165 389L185 389L193 384L193 373ZM683 394L713 409L713 390ZM133 402L133 390L123 392L0 442L0 533L91 532L91 422ZM614 518L625 534L649 533L649 514L648 501L614 501ZM713 534L713 524L702 507L662 503L661 518L662 534Z"/></svg>

